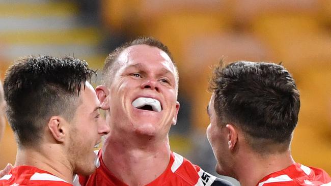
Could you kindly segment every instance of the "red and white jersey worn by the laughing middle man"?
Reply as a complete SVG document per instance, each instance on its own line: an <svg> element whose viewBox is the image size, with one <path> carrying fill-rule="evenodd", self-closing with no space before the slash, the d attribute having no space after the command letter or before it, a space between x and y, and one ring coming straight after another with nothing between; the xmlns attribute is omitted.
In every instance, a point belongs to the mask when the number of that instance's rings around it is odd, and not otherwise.
<svg viewBox="0 0 331 186"><path fill-rule="evenodd" d="M79 177L80 184L87 186L127 186L126 183L116 178L112 172L106 168L102 160L101 150L99 151L98 157L100 166L97 168L96 172L89 177ZM232 184L203 171L200 167L193 165L179 154L171 152L171 158L167 169L146 186L154 185L218 186Z"/></svg>

